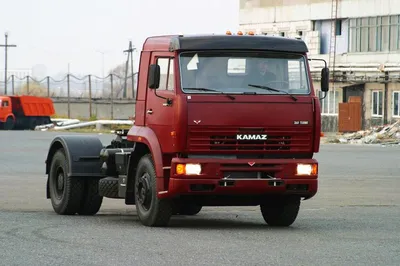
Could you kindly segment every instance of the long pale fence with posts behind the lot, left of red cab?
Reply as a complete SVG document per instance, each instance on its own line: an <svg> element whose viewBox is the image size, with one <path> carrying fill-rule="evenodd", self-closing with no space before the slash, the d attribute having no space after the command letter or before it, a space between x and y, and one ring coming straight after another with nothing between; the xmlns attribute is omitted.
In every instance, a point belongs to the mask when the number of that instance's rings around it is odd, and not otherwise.
<svg viewBox="0 0 400 266"><path fill-rule="evenodd" d="M76 76L67 74L63 78L24 78L11 75L7 83L0 82L2 95L35 95L47 97L87 98L87 99L133 99L136 92L137 73L127 76L109 74Z"/></svg>

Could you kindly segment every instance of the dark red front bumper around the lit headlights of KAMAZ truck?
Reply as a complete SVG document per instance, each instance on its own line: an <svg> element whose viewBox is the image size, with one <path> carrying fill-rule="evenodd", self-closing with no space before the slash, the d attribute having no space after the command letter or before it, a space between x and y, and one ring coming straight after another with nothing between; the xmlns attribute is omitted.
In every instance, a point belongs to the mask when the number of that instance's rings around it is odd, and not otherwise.
<svg viewBox="0 0 400 266"><path fill-rule="evenodd" d="M178 174L178 164L200 164L198 175ZM297 165L316 166L313 174L298 175ZM315 159L183 159L171 164L168 190L158 196L296 194L313 197L318 190Z"/></svg>

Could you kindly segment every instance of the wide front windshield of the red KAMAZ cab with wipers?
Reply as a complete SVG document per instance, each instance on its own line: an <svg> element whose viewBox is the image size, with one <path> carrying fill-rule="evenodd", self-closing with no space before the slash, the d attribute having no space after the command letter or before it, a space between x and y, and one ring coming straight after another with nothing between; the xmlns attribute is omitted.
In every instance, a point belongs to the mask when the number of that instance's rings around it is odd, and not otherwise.
<svg viewBox="0 0 400 266"><path fill-rule="evenodd" d="M179 64L181 87L185 93L310 93L306 61L301 54L182 52ZM269 87L275 91L251 85Z"/></svg>

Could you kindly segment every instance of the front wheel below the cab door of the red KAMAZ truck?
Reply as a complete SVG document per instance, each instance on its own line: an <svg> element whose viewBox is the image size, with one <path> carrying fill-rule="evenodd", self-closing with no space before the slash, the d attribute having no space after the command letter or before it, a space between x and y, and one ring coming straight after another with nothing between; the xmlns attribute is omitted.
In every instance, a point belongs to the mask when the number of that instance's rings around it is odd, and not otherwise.
<svg viewBox="0 0 400 266"><path fill-rule="evenodd" d="M141 223L150 227L168 226L172 216L169 199L157 197L156 170L150 154L144 155L135 176L135 205Z"/></svg>

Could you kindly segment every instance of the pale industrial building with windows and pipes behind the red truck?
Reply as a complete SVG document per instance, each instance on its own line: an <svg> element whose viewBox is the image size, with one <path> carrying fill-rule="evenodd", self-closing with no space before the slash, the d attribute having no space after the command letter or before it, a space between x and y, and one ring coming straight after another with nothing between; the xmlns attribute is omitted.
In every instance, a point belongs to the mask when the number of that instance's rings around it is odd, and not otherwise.
<svg viewBox="0 0 400 266"><path fill-rule="evenodd" d="M348 120L339 103L350 96L361 100L365 129L400 118L399 14L399 0L240 0L239 28L302 38L309 57L325 59L334 73L321 100L323 130L337 131L339 121ZM321 62L310 63L318 81Z"/></svg>

